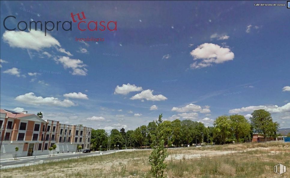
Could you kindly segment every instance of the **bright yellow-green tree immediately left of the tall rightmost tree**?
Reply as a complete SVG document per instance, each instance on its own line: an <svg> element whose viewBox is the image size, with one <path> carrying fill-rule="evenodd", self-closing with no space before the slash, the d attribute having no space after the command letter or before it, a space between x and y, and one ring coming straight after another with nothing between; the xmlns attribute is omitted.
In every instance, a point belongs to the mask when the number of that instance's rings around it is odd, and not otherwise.
<svg viewBox="0 0 290 178"><path fill-rule="evenodd" d="M231 129L239 142L240 137L249 136L251 132L251 125L243 115L230 115Z"/></svg>

